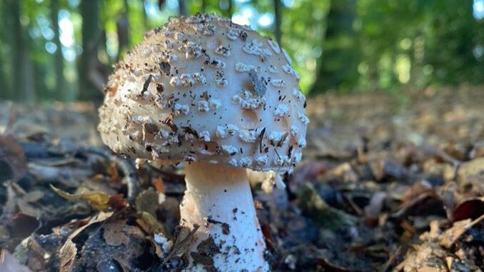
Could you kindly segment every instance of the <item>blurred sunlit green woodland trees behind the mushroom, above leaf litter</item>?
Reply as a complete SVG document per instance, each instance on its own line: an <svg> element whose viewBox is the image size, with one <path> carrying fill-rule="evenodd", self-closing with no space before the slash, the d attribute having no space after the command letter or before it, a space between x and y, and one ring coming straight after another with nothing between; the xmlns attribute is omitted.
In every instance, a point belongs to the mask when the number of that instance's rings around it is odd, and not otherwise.
<svg viewBox="0 0 484 272"><path fill-rule="evenodd" d="M307 93L484 83L484 0L3 0L0 99L100 101L145 31L196 12L280 41Z"/></svg>

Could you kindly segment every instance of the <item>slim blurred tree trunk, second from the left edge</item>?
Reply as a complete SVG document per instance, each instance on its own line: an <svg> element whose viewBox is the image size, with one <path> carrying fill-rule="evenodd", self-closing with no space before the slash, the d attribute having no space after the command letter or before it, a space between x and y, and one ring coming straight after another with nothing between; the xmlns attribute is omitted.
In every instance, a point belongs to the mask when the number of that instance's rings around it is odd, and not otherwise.
<svg viewBox="0 0 484 272"><path fill-rule="evenodd" d="M54 30L54 43L57 46L54 54L54 69L56 71L56 98L67 101L69 94L64 85L64 57L62 56L61 33L59 31L59 0L51 0L51 21Z"/></svg>

